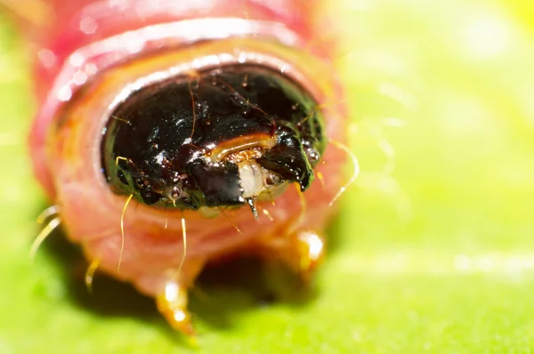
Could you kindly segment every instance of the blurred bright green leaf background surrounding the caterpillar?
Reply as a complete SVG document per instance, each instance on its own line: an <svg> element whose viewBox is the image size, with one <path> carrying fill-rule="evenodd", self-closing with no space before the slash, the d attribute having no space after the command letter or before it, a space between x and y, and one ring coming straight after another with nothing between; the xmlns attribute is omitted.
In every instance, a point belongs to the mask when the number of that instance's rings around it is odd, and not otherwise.
<svg viewBox="0 0 534 354"><path fill-rule="evenodd" d="M254 273L214 271L193 299L197 350L128 286L96 278L86 294L60 235L28 260L45 206L26 145L35 108L0 14L0 353L534 351L534 3L334 6L362 172L318 292L266 301Z"/></svg>

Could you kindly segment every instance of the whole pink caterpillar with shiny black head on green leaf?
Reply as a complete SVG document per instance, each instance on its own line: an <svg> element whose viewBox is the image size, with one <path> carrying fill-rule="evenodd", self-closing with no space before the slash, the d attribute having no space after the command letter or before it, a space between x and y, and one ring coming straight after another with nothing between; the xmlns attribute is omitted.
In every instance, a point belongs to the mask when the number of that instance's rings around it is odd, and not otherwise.
<svg viewBox="0 0 534 354"><path fill-rule="evenodd" d="M32 253L61 225L89 286L97 269L130 282L187 335L208 262L250 253L312 278L350 156L319 2L22 3L53 204Z"/></svg>

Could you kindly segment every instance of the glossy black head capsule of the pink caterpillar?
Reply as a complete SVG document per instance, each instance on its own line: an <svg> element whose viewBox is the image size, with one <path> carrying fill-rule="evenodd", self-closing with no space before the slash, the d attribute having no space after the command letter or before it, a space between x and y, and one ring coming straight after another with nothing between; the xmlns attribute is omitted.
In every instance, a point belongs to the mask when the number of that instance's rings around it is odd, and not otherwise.
<svg viewBox="0 0 534 354"><path fill-rule="evenodd" d="M274 70L231 65L131 94L103 130L111 188L145 205L251 205L288 182L302 190L326 138L310 93Z"/></svg>

